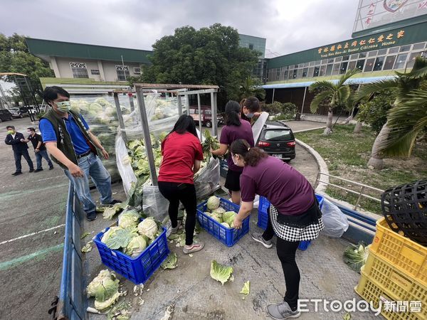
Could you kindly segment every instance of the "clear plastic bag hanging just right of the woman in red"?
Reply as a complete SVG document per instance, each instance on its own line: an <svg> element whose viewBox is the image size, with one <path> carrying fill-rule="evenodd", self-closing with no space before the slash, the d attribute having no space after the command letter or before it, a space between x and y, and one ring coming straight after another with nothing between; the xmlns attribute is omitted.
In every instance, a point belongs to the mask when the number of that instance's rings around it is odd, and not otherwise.
<svg viewBox="0 0 427 320"><path fill-rule="evenodd" d="M219 159L211 158L209 164L194 176L194 187L198 199L206 198L219 188Z"/></svg>

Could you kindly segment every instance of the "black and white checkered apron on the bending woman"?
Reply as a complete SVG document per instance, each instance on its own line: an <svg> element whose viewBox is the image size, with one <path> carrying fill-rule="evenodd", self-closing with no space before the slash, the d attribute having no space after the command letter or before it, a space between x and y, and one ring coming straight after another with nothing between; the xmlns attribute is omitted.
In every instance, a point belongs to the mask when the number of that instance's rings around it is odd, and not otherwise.
<svg viewBox="0 0 427 320"><path fill-rule="evenodd" d="M319 236L320 230L325 228L322 218L320 218L317 223L307 225L305 228L292 228L288 225L282 225L278 223L278 215L280 213L278 213L275 206L271 204L268 208L268 214L270 215L271 225L273 225L275 235L287 241L313 240Z"/></svg>

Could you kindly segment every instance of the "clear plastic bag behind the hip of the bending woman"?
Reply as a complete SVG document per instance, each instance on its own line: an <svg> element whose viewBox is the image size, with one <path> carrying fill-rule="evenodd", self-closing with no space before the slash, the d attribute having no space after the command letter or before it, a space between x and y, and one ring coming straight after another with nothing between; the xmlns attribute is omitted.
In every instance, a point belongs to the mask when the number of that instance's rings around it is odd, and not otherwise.
<svg viewBox="0 0 427 320"><path fill-rule="evenodd" d="M343 233L349 228L347 216L326 198L323 199L322 220L325 225L322 233L333 238L341 238Z"/></svg>

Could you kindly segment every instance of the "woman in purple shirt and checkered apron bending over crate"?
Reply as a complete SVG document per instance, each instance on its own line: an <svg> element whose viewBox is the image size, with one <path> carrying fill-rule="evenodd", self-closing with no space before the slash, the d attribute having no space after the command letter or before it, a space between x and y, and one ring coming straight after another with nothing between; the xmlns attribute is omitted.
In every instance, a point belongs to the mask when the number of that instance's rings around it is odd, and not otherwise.
<svg viewBox="0 0 427 320"><path fill-rule="evenodd" d="M323 229L322 213L315 192L307 179L280 159L268 156L243 139L231 144L231 156L236 166L243 167L241 174L241 208L234 219L234 227L241 228L242 221L251 214L255 194L270 201L268 227L261 235L253 233L253 240L264 247L272 247L276 235L276 249L285 274L284 301L270 304L268 314L273 319L297 318L300 270L295 262L295 252L302 240L312 240Z"/></svg>

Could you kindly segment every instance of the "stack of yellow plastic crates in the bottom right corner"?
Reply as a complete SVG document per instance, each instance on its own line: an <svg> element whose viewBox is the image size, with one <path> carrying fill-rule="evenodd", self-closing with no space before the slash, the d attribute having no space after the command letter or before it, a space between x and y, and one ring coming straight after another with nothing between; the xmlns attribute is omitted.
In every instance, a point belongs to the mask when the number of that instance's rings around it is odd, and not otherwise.
<svg viewBox="0 0 427 320"><path fill-rule="evenodd" d="M376 222L374 241L354 289L389 320L427 319L427 247Z"/></svg>

